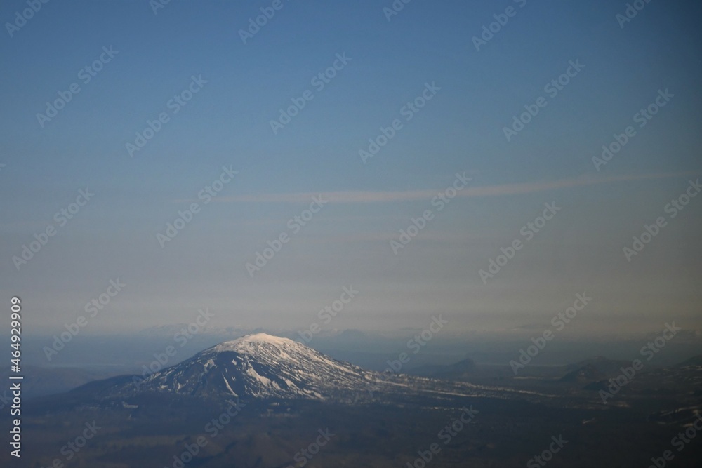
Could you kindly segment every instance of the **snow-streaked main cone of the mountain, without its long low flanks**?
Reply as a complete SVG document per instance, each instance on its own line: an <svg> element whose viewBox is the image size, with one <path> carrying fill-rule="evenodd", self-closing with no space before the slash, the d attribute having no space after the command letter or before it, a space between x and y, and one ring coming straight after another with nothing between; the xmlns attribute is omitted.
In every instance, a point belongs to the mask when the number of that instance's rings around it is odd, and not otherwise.
<svg viewBox="0 0 702 468"><path fill-rule="evenodd" d="M326 400L364 392L373 373L288 338L256 333L150 375L140 390L230 398Z"/></svg>

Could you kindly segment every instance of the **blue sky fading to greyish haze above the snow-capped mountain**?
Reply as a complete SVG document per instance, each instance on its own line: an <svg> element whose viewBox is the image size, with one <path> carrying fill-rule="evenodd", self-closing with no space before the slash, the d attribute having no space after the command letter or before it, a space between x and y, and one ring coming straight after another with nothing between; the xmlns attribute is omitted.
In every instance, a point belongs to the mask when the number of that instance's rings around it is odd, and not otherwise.
<svg viewBox="0 0 702 468"><path fill-rule="evenodd" d="M399 329L444 313L453 329L539 328L587 291L595 300L569 333L700 330L702 197L693 198L630 261L623 247L702 172L698 132L702 6L652 1L620 27L625 2L282 1L243 44L239 30L270 1L42 4L0 53L0 290L33 311L25 326L56 333L119 278L128 286L86 333L187 322L199 307L216 326L309 326L343 286L361 293L330 325ZM479 51L493 15L515 15ZM3 23L27 8L4 2ZM118 51L83 83L102 48ZM314 76L350 61L324 89ZM585 67L555 97L545 84ZM206 81L177 114L168 102L192 76ZM44 127L46 102L78 83ZM411 121L401 109L425 83L440 90ZM271 119L312 90L277 134ZM643 128L659 90L674 97ZM548 104L510 141L503 127ZM126 143L159 113L168 122L130 157ZM372 159L360 149L394 119L402 129ZM600 171L592 157L614 134L636 135ZM199 192L222 167L238 171L213 202ZM472 177L437 212L456 173ZM13 256L75 201L95 196L26 265ZM329 203L292 234L288 220ZM178 210L200 202L161 248ZM562 210L486 284L479 276L544 203ZM397 255L411 218L435 217ZM253 278L266 241L290 241ZM543 328L543 327L542 327Z"/></svg>

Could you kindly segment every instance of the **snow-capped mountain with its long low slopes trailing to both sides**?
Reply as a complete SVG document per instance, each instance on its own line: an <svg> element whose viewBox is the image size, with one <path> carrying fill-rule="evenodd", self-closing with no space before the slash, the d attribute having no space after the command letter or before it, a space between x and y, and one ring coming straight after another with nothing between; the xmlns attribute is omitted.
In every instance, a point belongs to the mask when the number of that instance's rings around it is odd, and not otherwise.
<svg viewBox="0 0 702 468"><path fill-rule="evenodd" d="M402 403L456 396L543 397L536 392L405 375L390 368L371 372L267 333L220 343L147 377L120 375L88 382L69 395L81 404L90 400L108 406L115 401L138 405L154 401L154 396L159 401L183 396L221 403L234 399Z"/></svg>

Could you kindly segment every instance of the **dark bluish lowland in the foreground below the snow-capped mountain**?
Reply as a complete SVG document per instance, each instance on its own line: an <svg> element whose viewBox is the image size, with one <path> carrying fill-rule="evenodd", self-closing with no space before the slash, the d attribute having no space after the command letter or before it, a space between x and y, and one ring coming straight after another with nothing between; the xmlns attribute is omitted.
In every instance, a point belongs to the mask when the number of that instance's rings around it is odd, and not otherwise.
<svg viewBox="0 0 702 468"><path fill-rule="evenodd" d="M545 466L534 459L544 453L558 467L648 467L651 457L663 462L670 450L673 460L665 466L698 467L702 437L684 443L677 434L696 433L690 424L702 401L699 382L684 395L673 388L699 375L698 367L641 375L640 387L662 378L668 389L633 387L607 405L597 392L574 391L581 382L550 377L527 380L542 389L525 387L523 396L376 393L376 401L351 404L242 399L232 405L148 393L105 400L91 396L99 392L87 385L28 403L22 460L4 450L0 464L379 468L423 467L423 456L432 467L536 467ZM2 424L9 427L7 417ZM89 439L79 447L83 436Z"/></svg>

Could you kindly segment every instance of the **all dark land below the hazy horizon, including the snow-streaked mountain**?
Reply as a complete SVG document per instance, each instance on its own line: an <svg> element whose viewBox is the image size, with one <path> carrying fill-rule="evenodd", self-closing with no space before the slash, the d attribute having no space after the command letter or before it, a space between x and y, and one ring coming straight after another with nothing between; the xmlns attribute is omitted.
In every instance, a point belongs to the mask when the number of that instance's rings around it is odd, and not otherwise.
<svg viewBox="0 0 702 468"><path fill-rule="evenodd" d="M632 365L595 358L515 374L464 359L375 373L257 333L151 375L27 400L22 458L4 450L0 465L701 466L701 360ZM0 423L11 427L8 413Z"/></svg>

